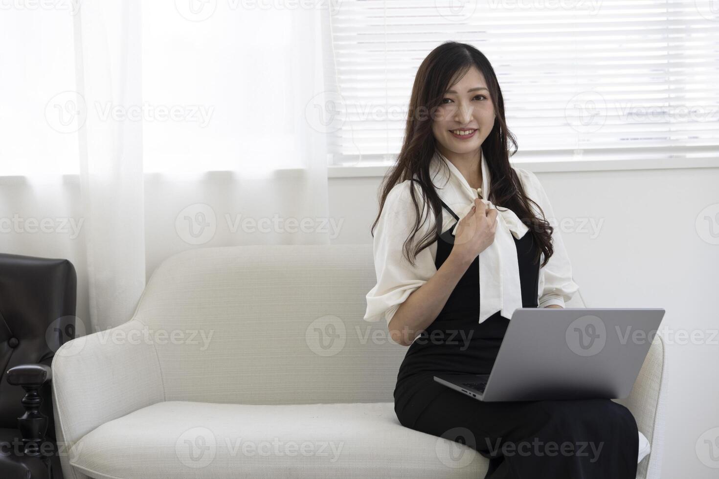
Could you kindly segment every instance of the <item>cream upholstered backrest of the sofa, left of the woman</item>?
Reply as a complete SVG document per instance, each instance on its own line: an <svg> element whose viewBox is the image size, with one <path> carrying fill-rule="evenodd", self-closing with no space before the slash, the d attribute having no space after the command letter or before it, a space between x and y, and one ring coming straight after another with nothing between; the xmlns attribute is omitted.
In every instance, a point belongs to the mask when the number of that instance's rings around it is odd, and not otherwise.
<svg viewBox="0 0 719 479"><path fill-rule="evenodd" d="M387 402L407 349L362 319L375 282L371 244L197 248L157 268L133 319L168 401Z"/></svg>

